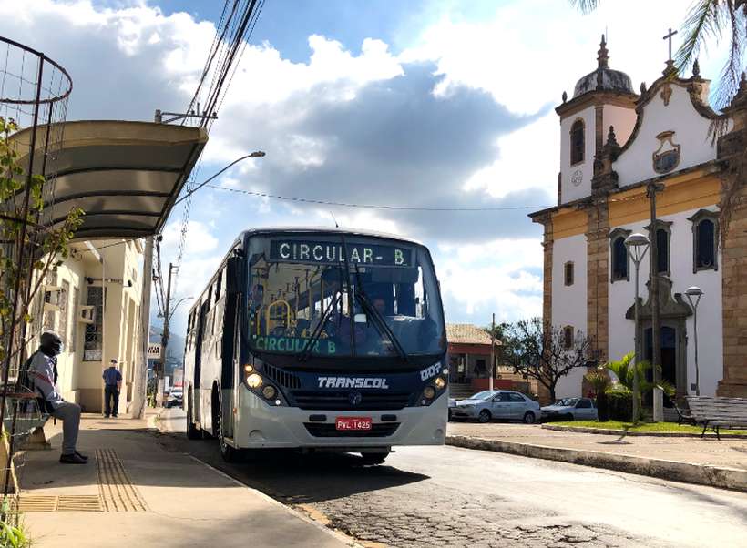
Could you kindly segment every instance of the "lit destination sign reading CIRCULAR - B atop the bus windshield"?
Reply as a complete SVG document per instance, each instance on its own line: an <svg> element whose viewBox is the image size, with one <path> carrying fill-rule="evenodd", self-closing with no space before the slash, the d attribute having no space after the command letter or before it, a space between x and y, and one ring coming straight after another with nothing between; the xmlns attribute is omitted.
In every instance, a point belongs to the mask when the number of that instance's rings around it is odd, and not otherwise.
<svg viewBox="0 0 747 548"><path fill-rule="evenodd" d="M412 249L360 243L349 243L346 247L351 263L380 267L409 267L413 264ZM331 241L273 239L270 245L271 260L338 264L343 256L343 244Z"/></svg>

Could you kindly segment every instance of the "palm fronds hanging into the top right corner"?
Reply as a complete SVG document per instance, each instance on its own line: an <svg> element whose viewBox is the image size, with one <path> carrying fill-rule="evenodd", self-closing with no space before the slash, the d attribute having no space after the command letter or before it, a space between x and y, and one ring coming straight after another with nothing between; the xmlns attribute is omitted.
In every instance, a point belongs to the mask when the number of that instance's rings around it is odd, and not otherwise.
<svg viewBox="0 0 747 548"><path fill-rule="evenodd" d="M599 7L601 0L569 0L582 13ZM714 102L726 107L739 90L740 77L745 69L744 51L747 48L747 0L697 0L682 23L684 40L675 56L678 74L692 64L709 39L716 41L726 35L730 40L729 56L721 71Z"/></svg>

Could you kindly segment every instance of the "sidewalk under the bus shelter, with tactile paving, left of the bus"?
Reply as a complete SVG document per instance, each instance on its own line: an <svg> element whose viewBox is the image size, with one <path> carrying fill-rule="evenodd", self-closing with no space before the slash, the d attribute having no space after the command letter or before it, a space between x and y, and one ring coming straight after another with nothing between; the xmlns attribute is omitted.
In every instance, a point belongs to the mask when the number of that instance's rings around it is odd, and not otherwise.
<svg viewBox="0 0 747 548"><path fill-rule="evenodd" d="M26 453L19 470L35 546L351 545L222 472L165 451L147 420L84 416L78 449L87 465L57 462L61 425L47 423L53 450Z"/></svg>

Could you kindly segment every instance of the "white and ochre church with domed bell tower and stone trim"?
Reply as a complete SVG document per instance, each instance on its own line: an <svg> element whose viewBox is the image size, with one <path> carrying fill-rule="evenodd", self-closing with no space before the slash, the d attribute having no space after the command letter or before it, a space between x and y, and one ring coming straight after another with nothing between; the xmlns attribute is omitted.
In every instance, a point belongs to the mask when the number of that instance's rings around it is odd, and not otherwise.
<svg viewBox="0 0 747 548"><path fill-rule="evenodd" d="M730 107L709 107L710 82L695 63L688 78L663 76L633 91L609 68L602 37L596 70L563 94L558 205L530 217L544 226L546 324L568 344L581 331L596 363L635 347L634 264L625 238L649 235L656 192L662 375L678 396L747 397L747 82ZM714 128L720 132L714 134ZM716 137L713 137L713 136ZM650 253L640 264L640 340L652 354ZM702 292L695 319L684 297ZM558 397L582 394L586 370L558 384Z"/></svg>

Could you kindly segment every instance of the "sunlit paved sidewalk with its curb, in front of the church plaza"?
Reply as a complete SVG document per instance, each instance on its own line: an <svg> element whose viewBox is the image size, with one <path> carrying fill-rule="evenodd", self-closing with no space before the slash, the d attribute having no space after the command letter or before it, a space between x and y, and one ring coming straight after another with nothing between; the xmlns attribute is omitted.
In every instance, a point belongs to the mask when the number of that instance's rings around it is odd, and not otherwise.
<svg viewBox="0 0 747 548"><path fill-rule="evenodd" d="M747 492L747 440L551 431L539 425L449 422L446 443Z"/></svg>

